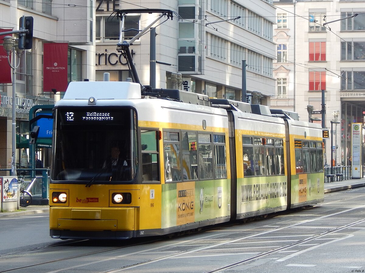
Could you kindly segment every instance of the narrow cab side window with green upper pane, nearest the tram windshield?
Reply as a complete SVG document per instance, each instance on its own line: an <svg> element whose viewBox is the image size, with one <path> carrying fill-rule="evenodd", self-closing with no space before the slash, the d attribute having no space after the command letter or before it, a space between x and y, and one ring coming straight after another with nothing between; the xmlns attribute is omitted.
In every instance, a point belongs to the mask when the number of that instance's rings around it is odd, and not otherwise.
<svg viewBox="0 0 365 273"><path fill-rule="evenodd" d="M142 180L159 181L157 131L141 130Z"/></svg>

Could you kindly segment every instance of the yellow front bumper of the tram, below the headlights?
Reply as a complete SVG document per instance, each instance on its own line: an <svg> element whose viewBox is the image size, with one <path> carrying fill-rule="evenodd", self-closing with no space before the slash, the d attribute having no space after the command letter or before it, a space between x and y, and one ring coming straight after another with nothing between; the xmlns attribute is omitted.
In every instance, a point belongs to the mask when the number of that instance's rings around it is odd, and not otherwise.
<svg viewBox="0 0 365 273"><path fill-rule="evenodd" d="M135 207L50 207L51 230L135 230Z"/></svg>

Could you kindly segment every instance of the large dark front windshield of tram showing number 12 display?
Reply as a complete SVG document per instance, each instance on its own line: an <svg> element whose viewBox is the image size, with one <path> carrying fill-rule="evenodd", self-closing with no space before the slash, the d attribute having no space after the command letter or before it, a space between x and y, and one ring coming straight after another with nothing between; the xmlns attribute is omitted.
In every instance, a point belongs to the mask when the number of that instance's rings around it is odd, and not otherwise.
<svg viewBox="0 0 365 273"><path fill-rule="evenodd" d="M127 107L59 107L54 182L130 182L137 171L136 113Z"/></svg>

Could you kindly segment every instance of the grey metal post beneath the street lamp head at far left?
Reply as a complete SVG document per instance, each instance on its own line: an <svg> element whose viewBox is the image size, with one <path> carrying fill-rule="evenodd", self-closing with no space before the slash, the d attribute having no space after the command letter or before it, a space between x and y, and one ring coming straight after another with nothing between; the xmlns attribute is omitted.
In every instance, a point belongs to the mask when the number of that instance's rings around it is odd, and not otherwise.
<svg viewBox="0 0 365 273"><path fill-rule="evenodd" d="M16 108L16 52L15 47L13 47L13 79L12 79L12 87L13 87L13 97L12 97L12 144L11 144L11 176L17 176L16 174L16 122L15 122L15 108Z"/></svg>

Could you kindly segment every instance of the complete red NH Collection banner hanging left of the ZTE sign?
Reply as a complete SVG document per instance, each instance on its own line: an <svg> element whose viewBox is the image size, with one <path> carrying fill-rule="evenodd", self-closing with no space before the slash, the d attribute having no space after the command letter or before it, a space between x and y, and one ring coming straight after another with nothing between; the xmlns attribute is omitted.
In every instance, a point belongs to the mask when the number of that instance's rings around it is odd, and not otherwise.
<svg viewBox="0 0 365 273"><path fill-rule="evenodd" d="M68 43L43 44L43 91L64 92L67 89Z"/></svg>

